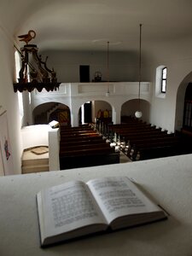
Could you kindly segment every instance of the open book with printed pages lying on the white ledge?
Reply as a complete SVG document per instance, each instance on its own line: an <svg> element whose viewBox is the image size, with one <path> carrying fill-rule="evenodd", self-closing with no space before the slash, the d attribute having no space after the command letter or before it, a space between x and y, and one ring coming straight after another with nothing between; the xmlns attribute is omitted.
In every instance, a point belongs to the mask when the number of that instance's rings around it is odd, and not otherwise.
<svg viewBox="0 0 192 256"><path fill-rule="evenodd" d="M73 181L37 195L41 246L166 218L128 177Z"/></svg>

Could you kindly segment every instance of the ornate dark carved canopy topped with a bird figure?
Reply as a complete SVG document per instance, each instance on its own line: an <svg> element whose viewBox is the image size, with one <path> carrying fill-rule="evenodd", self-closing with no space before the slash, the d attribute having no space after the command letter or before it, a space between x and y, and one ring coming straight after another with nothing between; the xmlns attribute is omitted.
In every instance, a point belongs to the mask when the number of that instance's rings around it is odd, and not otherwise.
<svg viewBox="0 0 192 256"><path fill-rule="evenodd" d="M21 68L19 72L18 83L14 84L14 91L20 92L28 90L31 92L37 89L39 92L43 89L49 91L58 90L61 83L57 82L54 68L47 67L47 59L42 60L42 56L38 55L38 47L36 44L28 44L36 37L36 32L30 30L25 35L20 35L20 41L25 42L24 47L15 49L21 57Z"/></svg>

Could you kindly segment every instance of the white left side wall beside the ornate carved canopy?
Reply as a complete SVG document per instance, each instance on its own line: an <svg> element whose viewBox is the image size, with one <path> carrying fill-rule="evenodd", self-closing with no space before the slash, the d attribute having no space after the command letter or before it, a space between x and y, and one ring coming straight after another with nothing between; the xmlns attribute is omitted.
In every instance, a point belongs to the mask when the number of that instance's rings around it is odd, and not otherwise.
<svg viewBox="0 0 192 256"><path fill-rule="evenodd" d="M17 94L13 89L14 80L14 40L0 26L0 105L7 111L9 138L12 148L15 174L21 172L21 137L20 137L20 114Z"/></svg>

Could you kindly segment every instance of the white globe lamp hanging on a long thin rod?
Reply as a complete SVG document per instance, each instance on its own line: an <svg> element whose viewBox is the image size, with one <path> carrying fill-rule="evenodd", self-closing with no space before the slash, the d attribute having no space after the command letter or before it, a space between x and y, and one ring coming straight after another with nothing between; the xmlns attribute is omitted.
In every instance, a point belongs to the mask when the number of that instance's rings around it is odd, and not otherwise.
<svg viewBox="0 0 192 256"><path fill-rule="evenodd" d="M138 110L135 113L137 119L143 116L141 111L141 80L142 80L142 24L139 25L139 89L138 89Z"/></svg>

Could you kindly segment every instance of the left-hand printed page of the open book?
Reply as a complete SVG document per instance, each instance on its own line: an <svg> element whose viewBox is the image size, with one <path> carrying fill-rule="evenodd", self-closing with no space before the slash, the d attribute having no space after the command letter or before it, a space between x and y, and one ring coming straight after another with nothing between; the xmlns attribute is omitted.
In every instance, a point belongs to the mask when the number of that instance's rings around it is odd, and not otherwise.
<svg viewBox="0 0 192 256"><path fill-rule="evenodd" d="M83 182L69 182L43 190L43 236L54 236L89 224L102 223L102 216ZM41 209L39 209L41 211Z"/></svg>

